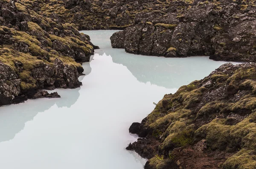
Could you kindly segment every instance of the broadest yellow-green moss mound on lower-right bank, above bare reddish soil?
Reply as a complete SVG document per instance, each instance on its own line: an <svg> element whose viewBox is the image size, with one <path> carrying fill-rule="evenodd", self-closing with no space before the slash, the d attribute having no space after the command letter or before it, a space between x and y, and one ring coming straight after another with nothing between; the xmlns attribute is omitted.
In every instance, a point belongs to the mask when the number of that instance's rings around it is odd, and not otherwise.
<svg viewBox="0 0 256 169"><path fill-rule="evenodd" d="M236 125L225 125L227 119L215 119L200 127L196 137L205 137L207 146L212 150L228 152L240 149L256 149L256 113L252 113ZM254 122L253 122L254 121Z"/></svg>

